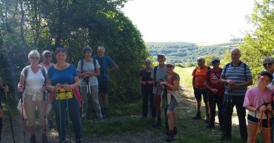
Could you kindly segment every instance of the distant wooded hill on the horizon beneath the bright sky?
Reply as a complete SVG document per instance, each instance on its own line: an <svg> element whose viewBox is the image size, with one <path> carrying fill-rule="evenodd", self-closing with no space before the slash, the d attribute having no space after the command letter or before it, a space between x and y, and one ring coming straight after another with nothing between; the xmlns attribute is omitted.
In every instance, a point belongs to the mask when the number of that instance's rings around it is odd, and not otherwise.
<svg viewBox="0 0 274 143"><path fill-rule="evenodd" d="M220 55L226 50L237 47L241 44L241 40L235 40L227 43L208 44L208 43L188 43L188 42L146 42L147 49L153 56L153 60L157 59L157 53L166 54L167 61L175 63L195 62L197 57L204 55Z"/></svg>

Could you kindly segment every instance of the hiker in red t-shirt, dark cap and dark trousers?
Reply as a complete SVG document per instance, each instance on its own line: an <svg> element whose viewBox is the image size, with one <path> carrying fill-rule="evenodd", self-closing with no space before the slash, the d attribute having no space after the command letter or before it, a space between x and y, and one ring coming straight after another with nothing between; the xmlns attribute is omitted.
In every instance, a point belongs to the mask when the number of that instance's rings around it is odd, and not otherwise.
<svg viewBox="0 0 274 143"><path fill-rule="evenodd" d="M213 58L211 61L213 65L213 69L208 71L206 76L205 85L208 88L208 99L210 104L210 123L208 124L208 128L215 127L215 115L216 115L216 104L218 108L218 117L219 117L219 125L221 129L223 129L223 112L222 104L223 104L223 95L225 95L225 86L222 82L220 82L220 77L222 73L222 69L219 67L220 59Z"/></svg>

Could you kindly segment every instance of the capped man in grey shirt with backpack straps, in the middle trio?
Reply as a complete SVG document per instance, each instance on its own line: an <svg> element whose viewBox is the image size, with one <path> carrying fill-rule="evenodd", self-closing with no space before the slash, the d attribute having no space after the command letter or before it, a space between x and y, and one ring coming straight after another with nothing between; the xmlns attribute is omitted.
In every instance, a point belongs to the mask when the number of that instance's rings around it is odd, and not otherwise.
<svg viewBox="0 0 274 143"><path fill-rule="evenodd" d="M154 84L153 86L153 94L154 94L154 106L156 110L157 115L157 122L154 124L154 127L161 126L161 94L162 94L162 87L160 86L160 82L164 81L164 76L166 76L167 70L166 65L164 64L164 61L166 61L166 57L163 53L157 54L157 61L159 65L155 66L153 68L153 71L151 72L151 79ZM154 121L154 120L153 120Z"/></svg>

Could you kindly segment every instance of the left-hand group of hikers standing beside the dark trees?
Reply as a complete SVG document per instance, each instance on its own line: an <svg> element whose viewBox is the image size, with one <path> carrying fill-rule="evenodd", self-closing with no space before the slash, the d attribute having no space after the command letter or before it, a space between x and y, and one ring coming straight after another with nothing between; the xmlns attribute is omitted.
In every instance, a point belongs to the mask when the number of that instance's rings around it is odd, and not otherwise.
<svg viewBox="0 0 274 143"><path fill-rule="evenodd" d="M17 108L22 114L24 142L25 118L30 134L29 142L37 142L36 112L42 129L42 142L49 142L46 128L47 125L50 128L53 126L51 108L55 112L59 142L71 142L71 128L69 127L69 133L66 133L65 127L66 124L70 125L70 121L75 132L75 142L82 142L82 121L90 120L91 116L94 118L90 112L91 108L95 109L98 120L103 121L107 115L109 74L119 67L105 55L103 46L99 46L97 52L97 55L91 57L92 49L85 46L84 59L79 61L77 68L66 63L68 53L65 48L56 48L53 55L57 63L54 64L51 63L52 54L49 50L42 52L44 61L40 64L38 50L29 52L30 65L23 68L17 86L21 98ZM1 78L0 87L3 92L8 93L8 86L3 86ZM2 109L2 106L0 108ZM0 127L2 127L2 116L3 112L0 110Z"/></svg>

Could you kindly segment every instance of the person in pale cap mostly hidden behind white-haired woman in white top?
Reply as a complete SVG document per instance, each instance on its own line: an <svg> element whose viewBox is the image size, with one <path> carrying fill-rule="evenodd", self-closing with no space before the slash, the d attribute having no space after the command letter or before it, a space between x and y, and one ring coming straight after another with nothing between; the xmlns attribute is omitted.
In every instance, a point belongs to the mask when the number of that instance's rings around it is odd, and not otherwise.
<svg viewBox="0 0 274 143"><path fill-rule="evenodd" d="M43 67L46 67L47 70L49 70L49 67L51 67L52 65L54 65L53 63L51 63L51 52L49 50L44 50L42 52L42 57L43 57L43 62L40 63L39 65L42 65ZM51 103L49 103L49 95L46 91L46 102L47 102L47 123L49 128L53 127L53 121L52 121L52 117L51 114L49 114L51 112Z"/></svg>

